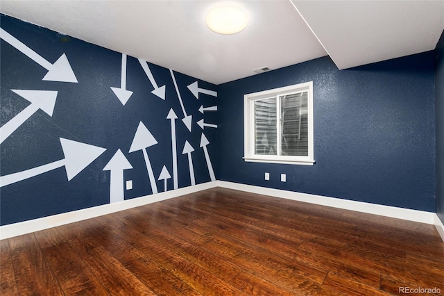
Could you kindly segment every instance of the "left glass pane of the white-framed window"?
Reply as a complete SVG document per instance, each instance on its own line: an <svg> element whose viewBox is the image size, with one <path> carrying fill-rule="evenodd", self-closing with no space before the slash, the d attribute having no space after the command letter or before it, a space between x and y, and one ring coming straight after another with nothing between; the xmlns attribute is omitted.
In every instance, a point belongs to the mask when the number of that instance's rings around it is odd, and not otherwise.
<svg viewBox="0 0 444 296"><path fill-rule="evenodd" d="M277 154L276 108L275 98L255 101L255 154Z"/></svg>

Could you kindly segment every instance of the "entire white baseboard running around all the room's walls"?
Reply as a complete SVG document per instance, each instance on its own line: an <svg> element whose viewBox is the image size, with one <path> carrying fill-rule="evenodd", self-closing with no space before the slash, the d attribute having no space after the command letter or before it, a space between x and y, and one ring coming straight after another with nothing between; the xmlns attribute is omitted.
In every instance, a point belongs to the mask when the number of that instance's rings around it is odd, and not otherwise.
<svg viewBox="0 0 444 296"><path fill-rule="evenodd" d="M135 199L128 199L123 202L117 202L114 204L104 204L102 206L94 206L92 208L85 208L78 211L72 211L58 215L52 215L49 217L42 217L34 220L4 225L0 227L0 239L12 238L13 236L21 236L22 234L40 231L43 229L49 229L51 227L58 227L60 225L78 222L80 220L86 220L89 218L98 217L117 211L123 211L128 208L135 208L136 206L143 206L145 204L151 204L153 202L160 202L165 199L171 199L173 197L179 197L181 195L187 195L189 193L194 193L214 187L241 190L251 193L257 193L260 195L270 195L273 197L292 199L298 202L307 202L311 204L331 206L334 208L343 208L345 210L358 211L362 213L394 217L398 219L410 220L426 224L434 224L436 226L436 229L438 229L438 233L441 235L441 238L443 238L444 241L444 226L441 223L441 220L439 220L436 213L410 210L408 208L398 208L395 206L369 204L366 202L355 202L348 199L323 197L321 195L310 195L307 193L265 188L227 181L212 181L198 184L196 186L189 186L167 192L161 192L156 195L147 195Z"/></svg>

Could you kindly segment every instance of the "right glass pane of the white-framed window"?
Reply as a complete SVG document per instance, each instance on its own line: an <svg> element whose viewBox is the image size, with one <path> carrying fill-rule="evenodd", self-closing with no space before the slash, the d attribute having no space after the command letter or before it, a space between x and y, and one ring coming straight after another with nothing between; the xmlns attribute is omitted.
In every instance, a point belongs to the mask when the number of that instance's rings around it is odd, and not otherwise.
<svg viewBox="0 0 444 296"><path fill-rule="evenodd" d="M282 155L308 156L308 92L279 99Z"/></svg>

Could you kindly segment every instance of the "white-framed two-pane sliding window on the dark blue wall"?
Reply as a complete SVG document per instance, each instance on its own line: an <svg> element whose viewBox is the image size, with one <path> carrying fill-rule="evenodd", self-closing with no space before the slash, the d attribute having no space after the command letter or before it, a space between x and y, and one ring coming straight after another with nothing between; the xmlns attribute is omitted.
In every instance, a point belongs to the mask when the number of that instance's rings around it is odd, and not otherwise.
<svg viewBox="0 0 444 296"><path fill-rule="evenodd" d="M245 161L313 165L313 81L244 95Z"/></svg>

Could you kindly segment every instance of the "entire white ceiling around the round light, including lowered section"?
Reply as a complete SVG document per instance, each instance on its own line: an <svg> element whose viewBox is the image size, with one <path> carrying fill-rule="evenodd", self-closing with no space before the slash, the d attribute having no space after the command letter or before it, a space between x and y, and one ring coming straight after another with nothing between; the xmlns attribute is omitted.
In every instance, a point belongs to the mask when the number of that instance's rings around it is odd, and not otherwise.
<svg viewBox="0 0 444 296"><path fill-rule="evenodd" d="M205 15L231 3L248 26L213 33ZM0 0L0 12L214 84L329 55L346 69L433 50L444 0Z"/></svg>

